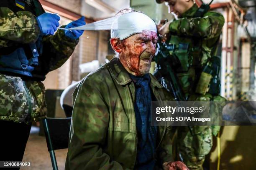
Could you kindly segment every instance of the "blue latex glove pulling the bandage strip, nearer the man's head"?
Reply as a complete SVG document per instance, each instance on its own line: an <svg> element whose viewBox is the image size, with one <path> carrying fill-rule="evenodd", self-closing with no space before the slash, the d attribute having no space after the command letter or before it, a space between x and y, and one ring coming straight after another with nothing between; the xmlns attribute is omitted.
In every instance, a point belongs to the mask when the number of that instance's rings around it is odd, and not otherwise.
<svg viewBox="0 0 256 170"><path fill-rule="evenodd" d="M69 23L65 28L74 28L85 25L84 17ZM65 30L65 35L71 39L77 39L83 34L84 30Z"/></svg>

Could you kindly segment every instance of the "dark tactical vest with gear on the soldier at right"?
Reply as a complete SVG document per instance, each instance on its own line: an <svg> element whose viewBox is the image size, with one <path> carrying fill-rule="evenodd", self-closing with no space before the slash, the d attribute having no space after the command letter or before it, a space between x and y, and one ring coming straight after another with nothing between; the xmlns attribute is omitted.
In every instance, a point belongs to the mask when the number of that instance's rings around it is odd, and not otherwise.
<svg viewBox="0 0 256 170"><path fill-rule="evenodd" d="M186 96L195 92L207 61L214 55L218 45L218 37L212 39L214 47L208 48L202 38L171 35L168 40L170 55L176 56L179 66L176 69L182 91ZM215 47L216 46L216 47Z"/></svg>

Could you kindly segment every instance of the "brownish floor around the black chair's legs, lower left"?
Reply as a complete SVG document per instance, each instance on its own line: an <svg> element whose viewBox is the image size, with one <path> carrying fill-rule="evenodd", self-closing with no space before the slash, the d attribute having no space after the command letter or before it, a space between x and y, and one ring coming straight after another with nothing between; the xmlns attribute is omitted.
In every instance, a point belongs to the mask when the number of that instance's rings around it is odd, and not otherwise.
<svg viewBox="0 0 256 170"><path fill-rule="evenodd" d="M29 162L29 167L21 167L20 170L52 170L51 158L47 149L46 139L38 135L39 128L32 127L31 134L23 156L23 162ZM64 170L67 149L55 151L59 170Z"/></svg>

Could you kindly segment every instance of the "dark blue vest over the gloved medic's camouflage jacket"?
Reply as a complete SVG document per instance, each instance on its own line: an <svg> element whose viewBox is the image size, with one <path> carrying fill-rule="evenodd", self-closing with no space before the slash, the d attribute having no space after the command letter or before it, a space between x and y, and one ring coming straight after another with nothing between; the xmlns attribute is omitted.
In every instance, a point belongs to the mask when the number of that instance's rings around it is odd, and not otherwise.
<svg viewBox="0 0 256 170"><path fill-rule="evenodd" d="M14 13L29 11L36 17L45 13L38 0L3 0L0 7L8 7ZM41 53L42 36L36 42L30 44L15 44L12 47L3 47L0 52L0 72L22 77L36 77L41 80L44 75L33 75L32 71L38 65L38 57Z"/></svg>

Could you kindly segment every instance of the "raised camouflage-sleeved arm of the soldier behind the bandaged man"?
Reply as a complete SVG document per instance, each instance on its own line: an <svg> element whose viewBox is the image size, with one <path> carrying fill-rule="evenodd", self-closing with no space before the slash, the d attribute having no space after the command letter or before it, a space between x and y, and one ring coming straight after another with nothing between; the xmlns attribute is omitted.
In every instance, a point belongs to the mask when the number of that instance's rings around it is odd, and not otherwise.
<svg viewBox="0 0 256 170"><path fill-rule="evenodd" d="M210 39L218 37L224 25L224 17L220 13L208 12L202 18L182 18L169 25L174 35L185 35Z"/></svg>

